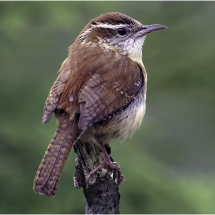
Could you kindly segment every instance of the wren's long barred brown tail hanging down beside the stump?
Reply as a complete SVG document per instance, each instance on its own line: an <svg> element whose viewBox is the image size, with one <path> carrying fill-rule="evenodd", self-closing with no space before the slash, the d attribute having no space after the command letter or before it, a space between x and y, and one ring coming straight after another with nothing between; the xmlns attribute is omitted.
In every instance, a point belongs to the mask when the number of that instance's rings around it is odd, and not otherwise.
<svg viewBox="0 0 215 215"><path fill-rule="evenodd" d="M55 195L64 164L77 138L78 122L74 118L73 121L69 121L69 117L61 118L40 163L33 184L34 191L39 194Z"/></svg>

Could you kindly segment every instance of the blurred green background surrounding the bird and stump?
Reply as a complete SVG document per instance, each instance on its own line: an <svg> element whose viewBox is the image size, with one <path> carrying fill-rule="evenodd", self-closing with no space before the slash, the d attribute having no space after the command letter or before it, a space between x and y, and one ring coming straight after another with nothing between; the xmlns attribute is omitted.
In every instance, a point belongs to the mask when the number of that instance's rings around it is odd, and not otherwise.
<svg viewBox="0 0 215 215"><path fill-rule="evenodd" d="M72 150L54 198L35 172L56 129L43 105L71 45L111 11L168 29L147 36L147 109L112 144L127 183L121 213L215 213L215 2L0 2L0 213L84 213Z"/></svg>

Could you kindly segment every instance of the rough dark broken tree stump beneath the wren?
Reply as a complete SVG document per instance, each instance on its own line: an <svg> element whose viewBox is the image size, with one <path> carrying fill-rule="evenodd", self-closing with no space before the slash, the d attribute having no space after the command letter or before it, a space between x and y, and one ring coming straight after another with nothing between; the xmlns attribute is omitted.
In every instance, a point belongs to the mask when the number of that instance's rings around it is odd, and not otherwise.
<svg viewBox="0 0 215 215"><path fill-rule="evenodd" d="M102 153L96 145L81 141L75 144L74 149L77 153L74 185L83 188L85 214L119 214L118 186L125 182L123 174L107 167L98 170L86 183L90 172L102 163ZM109 146L106 146L106 150L110 154Z"/></svg>

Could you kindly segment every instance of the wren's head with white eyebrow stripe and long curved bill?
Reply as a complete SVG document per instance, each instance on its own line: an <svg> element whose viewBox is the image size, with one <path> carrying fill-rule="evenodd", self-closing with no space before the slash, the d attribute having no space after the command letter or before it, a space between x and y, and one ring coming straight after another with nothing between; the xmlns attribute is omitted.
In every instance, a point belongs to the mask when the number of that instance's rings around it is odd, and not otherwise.
<svg viewBox="0 0 215 215"><path fill-rule="evenodd" d="M78 36L82 44L116 51L133 58L142 58L142 46L150 32L167 28L165 25L143 25L118 12L102 14L92 19Z"/></svg>

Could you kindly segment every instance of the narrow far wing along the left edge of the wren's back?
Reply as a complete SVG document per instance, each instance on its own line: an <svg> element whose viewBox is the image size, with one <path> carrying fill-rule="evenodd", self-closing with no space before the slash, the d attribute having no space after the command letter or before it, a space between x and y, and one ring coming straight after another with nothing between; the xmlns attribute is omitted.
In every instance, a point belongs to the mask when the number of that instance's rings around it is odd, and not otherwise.
<svg viewBox="0 0 215 215"><path fill-rule="evenodd" d="M66 82L71 74L71 69L69 67L68 59L66 59L60 68L60 74L58 75L56 81L52 85L52 88L49 91L48 98L46 99L44 106L44 114L42 117L42 122L48 123L57 104L59 101L59 97L63 92L63 89L66 85Z"/></svg>

